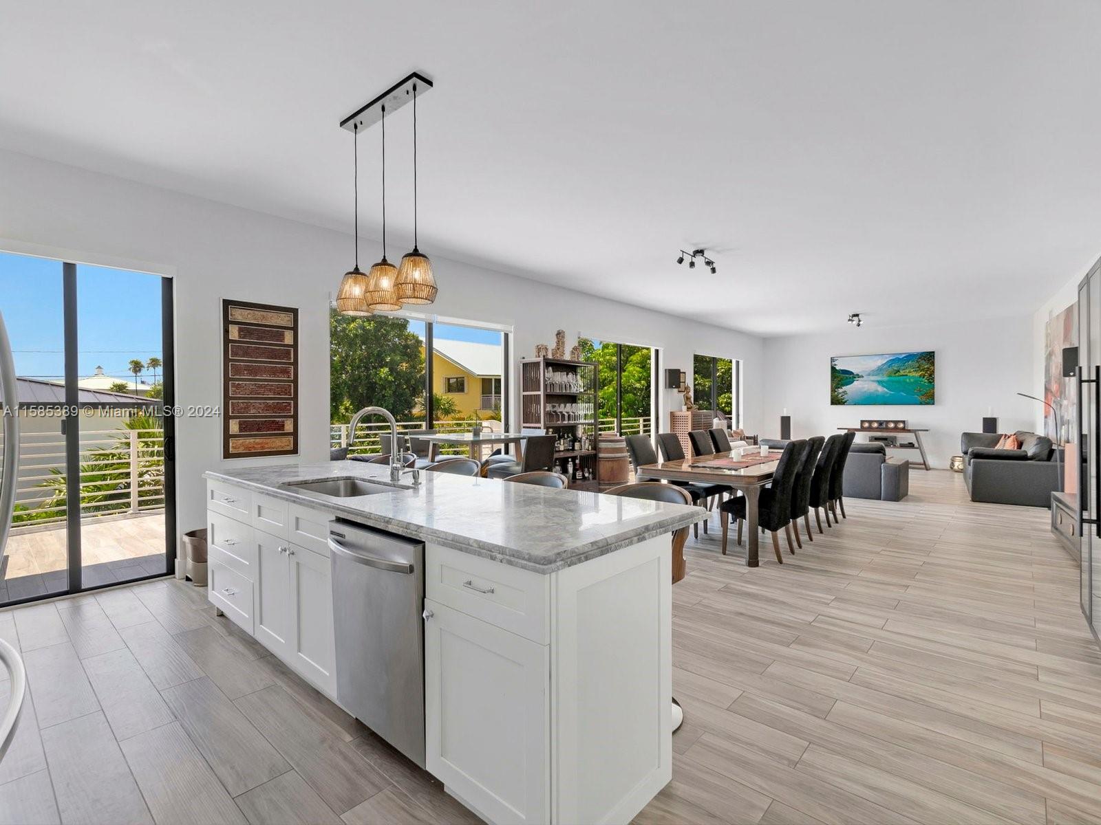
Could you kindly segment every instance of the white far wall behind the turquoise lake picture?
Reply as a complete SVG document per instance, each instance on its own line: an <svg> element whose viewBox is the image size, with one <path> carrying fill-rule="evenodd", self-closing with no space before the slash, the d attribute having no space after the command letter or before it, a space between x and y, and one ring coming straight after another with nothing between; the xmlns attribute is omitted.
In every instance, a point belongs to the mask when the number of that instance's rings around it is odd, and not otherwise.
<svg viewBox="0 0 1101 825"><path fill-rule="evenodd" d="M861 418L904 418L923 433L929 463L948 466L959 453L960 433L981 431L988 407L999 429L1035 429L1036 402L1016 393L1043 396L1042 378L1033 380L1032 317L991 318L966 323L923 323L876 329L846 326L837 332L766 339L762 435L780 435L786 407L796 438L858 427ZM829 359L880 352L934 350L937 353L937 399L931 406L832 407L829 404ZM917 460L916 451L898 450Z"/></svg>

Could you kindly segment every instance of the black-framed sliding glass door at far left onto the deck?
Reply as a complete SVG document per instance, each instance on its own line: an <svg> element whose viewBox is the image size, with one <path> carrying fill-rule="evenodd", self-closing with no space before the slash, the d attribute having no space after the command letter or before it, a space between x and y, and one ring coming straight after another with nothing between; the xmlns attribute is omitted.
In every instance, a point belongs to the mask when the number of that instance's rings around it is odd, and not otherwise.
<svg viewBox="0 0 1101 825"><path fill-rule="evenodd" d="M0 311L20 422L0 604L170 572L171 280L0 253Z"/></svg>

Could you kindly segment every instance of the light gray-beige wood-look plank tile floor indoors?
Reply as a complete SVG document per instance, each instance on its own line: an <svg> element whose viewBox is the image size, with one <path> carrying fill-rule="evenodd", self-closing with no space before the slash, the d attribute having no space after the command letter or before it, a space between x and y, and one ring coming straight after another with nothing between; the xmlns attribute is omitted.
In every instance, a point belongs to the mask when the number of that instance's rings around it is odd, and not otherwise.
<svg viewBox="0 0 1101 825"><path fill-rule="evenodd" d="M674 587L673 782L640 823L1101 822L1101 652L1038 508L914 471L777 565ZM0 613L0 823L456 823L438 782L175 581ZM0 682L0 702L7 698Z"/></svg>

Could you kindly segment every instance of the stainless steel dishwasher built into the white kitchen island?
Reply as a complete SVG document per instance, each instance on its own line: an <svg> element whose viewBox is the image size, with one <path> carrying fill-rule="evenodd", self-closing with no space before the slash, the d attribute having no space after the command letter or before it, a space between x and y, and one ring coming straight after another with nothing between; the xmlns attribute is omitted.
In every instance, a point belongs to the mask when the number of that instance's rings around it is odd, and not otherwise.
<svg viewBox="0 0 1101 825"><path fill-rule="evenodd" d="M424 542L329 522L337 700L424 767Z"/></svg>

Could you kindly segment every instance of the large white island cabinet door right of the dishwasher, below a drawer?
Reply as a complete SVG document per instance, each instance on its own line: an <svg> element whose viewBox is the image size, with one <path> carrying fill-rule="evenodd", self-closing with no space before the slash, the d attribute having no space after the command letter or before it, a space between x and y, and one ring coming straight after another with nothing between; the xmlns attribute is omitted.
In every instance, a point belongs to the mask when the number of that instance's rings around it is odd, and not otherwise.
<svg viewBox="0 0 1101 825"><path fill-rule="evenodd" d="M428 771L490 822L549 822L549 648L425 607Z"/></svg>

